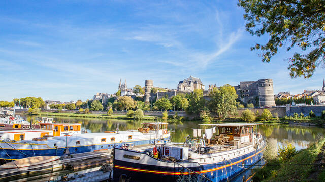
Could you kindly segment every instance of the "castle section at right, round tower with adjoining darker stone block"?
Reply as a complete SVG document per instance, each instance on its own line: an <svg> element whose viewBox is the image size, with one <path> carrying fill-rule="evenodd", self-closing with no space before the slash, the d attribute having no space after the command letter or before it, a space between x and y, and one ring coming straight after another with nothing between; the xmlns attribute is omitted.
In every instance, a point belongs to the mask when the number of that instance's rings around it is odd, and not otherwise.
<svg viewBox="0 0 325 182"><path fill-rule="evenodd" d="M273 80L260 79L258 81L241 81L239 85L234 86L238 99L254 106L275 106L273 93Z"/></svg>

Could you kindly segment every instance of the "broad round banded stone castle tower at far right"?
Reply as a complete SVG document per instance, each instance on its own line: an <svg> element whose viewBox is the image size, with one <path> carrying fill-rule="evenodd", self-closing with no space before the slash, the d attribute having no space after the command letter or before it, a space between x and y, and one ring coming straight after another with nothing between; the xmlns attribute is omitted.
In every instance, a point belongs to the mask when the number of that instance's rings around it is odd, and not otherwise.
<svg viewBox="0 0 325 182"><path fill-rule="evenodd" d="M273 80L260 79L258 83L258 97L261 106L276 106L274 101Z"/></svg>

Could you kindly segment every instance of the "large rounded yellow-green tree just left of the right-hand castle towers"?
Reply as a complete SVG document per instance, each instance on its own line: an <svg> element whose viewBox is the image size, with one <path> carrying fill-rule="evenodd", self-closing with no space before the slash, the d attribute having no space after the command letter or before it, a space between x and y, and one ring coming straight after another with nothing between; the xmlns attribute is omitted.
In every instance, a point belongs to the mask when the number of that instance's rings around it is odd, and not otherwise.
<svg viewBox="0 0 325 182"><path fill-rule="evenodd" d="M209 93L209 108L212 112L217 113L220 117L227 118L236 113L236 99L238 95L236 90L229 84L220 88L213 88Z"/></svg>

